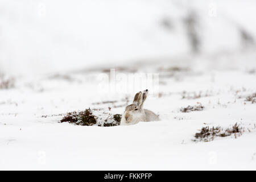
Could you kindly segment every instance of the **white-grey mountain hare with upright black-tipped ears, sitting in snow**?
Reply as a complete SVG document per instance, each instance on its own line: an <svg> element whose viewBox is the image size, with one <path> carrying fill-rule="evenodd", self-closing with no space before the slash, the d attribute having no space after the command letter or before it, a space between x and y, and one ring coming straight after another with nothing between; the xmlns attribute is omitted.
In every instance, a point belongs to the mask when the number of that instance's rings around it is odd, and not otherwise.
<svg viewBox="0 0 256 182"><path fill-rule="evenodd" d="M120 125L134 125L139 121L159 121L158 115L150 110L142 109L143 103L147 98L148 90L138 92L134 96L133 104L126 106L125 113Z"/></svg>

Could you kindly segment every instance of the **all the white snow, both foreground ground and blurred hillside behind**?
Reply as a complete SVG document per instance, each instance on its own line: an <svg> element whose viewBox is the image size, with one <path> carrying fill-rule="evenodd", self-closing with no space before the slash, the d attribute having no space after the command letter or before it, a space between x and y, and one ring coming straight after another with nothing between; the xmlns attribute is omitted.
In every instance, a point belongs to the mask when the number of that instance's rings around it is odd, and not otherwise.
<svg viewBox="0 0 256 182"><path fill-rule="evenodd" d="M233 2L214 1L212 17L212 1L203 0L1 1L0 75L15 82L0 89L0 169L255 170L256 104L245 101L256 93L255 44L242 47L238 31L255 40L255 2ZM184 28L191 9L200 19L200 54L191 53ZM161 25L163 18L173 29ZM112 89L101 80L110 68L123 76L157 73L159 82ZM122 114L144 89L144 109L160 121L59 122L88 107ZM204 109L180 111L197 104ZM241 136L193 141L202 127L235 123L243 127Z"/></svg>

